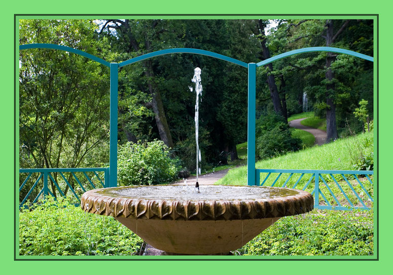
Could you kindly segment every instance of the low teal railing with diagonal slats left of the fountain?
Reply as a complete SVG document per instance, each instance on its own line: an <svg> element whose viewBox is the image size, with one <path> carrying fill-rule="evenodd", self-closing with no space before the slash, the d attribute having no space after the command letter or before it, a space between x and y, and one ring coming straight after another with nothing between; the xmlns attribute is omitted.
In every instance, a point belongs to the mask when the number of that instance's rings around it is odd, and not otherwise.
<svg viewBox="0 0 393 275"><path fill-rule="evenodd" d="M27 174L24 178L22 175ZM19 207L35 197L32 203L48 195L53 197L72 193L80 202L81 193L95 188L109 187L109 167L105 168L21 168L19 169ZM34 175L34 176L33 176Z"/></svg>

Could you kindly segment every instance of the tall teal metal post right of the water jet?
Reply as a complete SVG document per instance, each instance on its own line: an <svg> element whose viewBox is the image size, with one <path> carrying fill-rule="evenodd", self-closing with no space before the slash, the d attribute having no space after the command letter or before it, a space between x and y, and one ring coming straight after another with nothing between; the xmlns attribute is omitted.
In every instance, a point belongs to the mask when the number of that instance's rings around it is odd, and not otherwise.
<svg viewBox="0 0 393 275"><path fill-rule="evenodd" d="M248 63L247 113L247 185L256 184L255 173L255 108L257 64Z"/></svg>

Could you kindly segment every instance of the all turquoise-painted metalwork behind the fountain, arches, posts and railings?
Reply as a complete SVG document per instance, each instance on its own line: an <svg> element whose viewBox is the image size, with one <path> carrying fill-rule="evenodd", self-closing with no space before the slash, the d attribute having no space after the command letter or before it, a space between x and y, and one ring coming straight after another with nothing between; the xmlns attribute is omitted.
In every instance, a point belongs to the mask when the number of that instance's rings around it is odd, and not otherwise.
<svg viewBox="0 0 393 275"><path fill-rule="evenodd" d="M222 54L218 54L218 53L214 53L214 52L210 52L210 51L205 51L205 50L200 50L200 49L192 49L192 48L165 49L165 50L156 51L156 52L144 54L144 55L141 55L141 56L137 56L137 57L131 58L129 60L126 60L126 61L123 61L123 62L120 62L120 63L109 63L108 61L105 61L105 60L103 60L103 59L101 59L99 57L96 57L96 56L94 56L92 54L83 52L81 50L73 49L73 48L66 47L66 46L54 45L54 44L27 44L27 45L20 45L19 49L20 50L26 50L26 49L54 49L54 50L62 50L62 51L67 51L67 52L79 54L81 56L87 57L87 58L89 58L91 60L97 61L97 62L99 62L99 63L101 63L101 64L103 64L105 66L110 67L110 70L111 70L111 72L110 72L110 83L111 83L111 85L110 85L111 86L111 88L110 88L110 98L111 98L110 99L110 165L109 165L109 168L83 168L83 169L85 169L84 170L85 172L89 171L89 170L86 170L86 169L95 169L95 171L100 171L100 170L97 170L97 169L104 169L104 171L105 171L105 175L104 175L105 185L103 185L104 187L115 187L115 186L117 186L117 141L118 141L117 140L117 124L118 124L118 111L117 111L117 108L118 108L118 71L119 71L120 67L123 67L123 66L126 66L126 65L130 65L130 64L133 64L135 62L139 62L141 60L146 60L148 58L161 56L161 55L165 55L165 54L174 54L174 53L200 54L200 55L210 56L210 57L213 57L213 58L222 59L222 60L234 63L236 65L240 65L240 66L246 67L247 70L248 70L247 185L259 185L260 184L260 173L263 173L263 171L267 171L268 176L267 176L267 178L264 179L264 181L262 183L262 185L263 185L267 181L268 177L272 173L277 173L278 170L274 170L274 169L270 169L270 170L255 169L255 147L256 147L255 146L255 142L256 142L256 140L255 140L255 131L256 131L256 125L255 125L255 122L256 122L256 69L257 69L257 67L266 65L266 64L271 63L271 62L273 62L275 60L278 60L278 59L281 59L281 58L285 58L285 57L288 57L288 56L291 56L291 55L300 54L300 53L306 53L306 52L316 52L316 51L343 53L343 54L348 54L348 55L352 55L352 56L355 56L355 57L363 58L363 59L366 59L366 60L369 60L369 61L374 61L374 58L371 57L371 56L364 55L364 54L357 53L357 52L353 52L353 51L349 51L349 50L345 50L345 49L333 48L333 47L311 47L311 48L298 49L298 50L294 50L294 51L290 51L290 52L286 52L286 53L282 53L282 54L273 56L271 58L268 58L268 59L263 60L263 61L258 62L258 63L245 63L243 61L240 61L240 60L237 60L237 59L234 59L234 58L222 55ZM56 170L56 169L59 169L59 170ZM30 173L27 170L31 170L31 169L20 169L20 173ZM52 176L50 174L53 171L58 171L60 173L60 175L62 176L62 178L65 180L64 176L61 173L66 172L66 171L70 171L70 170L68 170L68 168L54 168L54 169L42 168L42 169L37 170L36 172L40 173L40 176L37 179L37 181L35 181L34 185L32 186L32 188L30 189L30 191L27 194L26 198L22 201L21 204L24 203L24 201L30 195L30 193L35 188L35 186L37 186L37 184L38 184L38 182L40 181L41 178L44 178L43 179L44 186L43 186L43 189L41 190L41 192L39 193L39 195L37 196L37 198L35 200L37 200L38 197L42 193L44 194L44 197L48 193L50 193L50 190L48 188L48 176L51 178L51 180L53 180L53 178L52 178ZM288 171L288 170L286 170L286 171ZM324 199L325 199L325 196L321 193L320 188L319 188L319 179L321 179L324 182L324 184L327 186L327 183L325 182L324 178L321 177L321 175L323 175L323 174L330 173L329 174L330 176L332 176L333 174L340 174L344 178L345 178L344 174L345 175L366 175L366 177L368 178L368 180L370 182L371 182L371 180L368 177L368 175L373 175L372 171L370 173L366 173L366 174L365 173L359 174L358 171L346 171L345 173L341 173L342 171L324 171L324 170L291 170L291 171L292 172L290 172L290 176L287 179L287 181L285 181L284 185L287 185L288 182L290 181L290 179L292 178L292 176L294 174L296 174L296 173L301 173L301 176L300 176L298 182L295 184L295 187L300 182L300 180L302 179L304 174L307 174L307 173L308 174L312 174L312 176L311 176L311 178L310 178L310 180L308 181L307 184L309 184L312 180L314 180L314 185L315 185L314 192L315 192L315 190L318 190L317 193L321 194L321 196ZM308 172L306 172L306 171L308 171ZM74 171L71 171L71 172L73 173ZM87 178L89 178L86 175L85 172L84 172L85 176ZM30 178L31 173L27 176L26 180L21 185L20 190L25 185L27 180ZM279 180L279 178L282 175L282 173L288 173L288 172L281 171L281 172L278 172L278 173L280 173L280 174L276 178L276 180L273 183L273 185ZM97 174L96 174L96 176L98 177ZM332 176L332 178L334 179L335 183L337 185L339 185L338 182L335 180L335 178L333 176ZM355 178L356 178L356 176L355 176ZM358 178L356 178L356 180L358 181L358 183L360 185L362 185L361 181ZM69 183L66 180L65 180L65 182L70 187ZM77 180L77 182L80 184L79 180ZM349 184L349 182L347 180L346 180L346 182ZM91 181L90 181L90 183L92 184ZM62 194L60 188L57 186L57 183L55 183L55 184L56 184L56 187L59 189L60 194ZM362 185L362 187L363 187L363 185ZM352 188L352 190L353 190L353 188ZM72 189L72 191L73 191L73 189ZM330 189L329 189L329 191L331 192ZM365 191L369 195L367 190L365 190ZM355 191L353 190L353 192L355 192ZM74 191L73 191L73 193L78 198L77 194ZM333 194L333 193L331 192L331 194ZM346 197L346 194L344 194L344 196ZM359 197L359 195L357 193L356 193L356 196L358 196L358 198L360 199L360 197ZM336 197L334 197L334 198L337 200ZM315 205L319 205L319 195L315 195ZM324 208L325 206L319 205L318 207L319 208ZM365 207L365 204L364 204L364 207ZM339 205L335 209L341 209L341 208L345 208L345 207L340 207L340 205Z"/></svg>

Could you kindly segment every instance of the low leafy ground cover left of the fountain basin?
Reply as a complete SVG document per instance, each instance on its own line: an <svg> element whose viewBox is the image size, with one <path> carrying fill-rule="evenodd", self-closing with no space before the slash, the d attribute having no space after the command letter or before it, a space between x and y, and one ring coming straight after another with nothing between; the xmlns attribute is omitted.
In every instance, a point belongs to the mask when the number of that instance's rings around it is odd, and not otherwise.
<svg viewBox="0 0 393 275"><path fill-rule="evenodd" d="M143 240L113 217L47 199L19 213L19 255L135 255Z"/></svg>

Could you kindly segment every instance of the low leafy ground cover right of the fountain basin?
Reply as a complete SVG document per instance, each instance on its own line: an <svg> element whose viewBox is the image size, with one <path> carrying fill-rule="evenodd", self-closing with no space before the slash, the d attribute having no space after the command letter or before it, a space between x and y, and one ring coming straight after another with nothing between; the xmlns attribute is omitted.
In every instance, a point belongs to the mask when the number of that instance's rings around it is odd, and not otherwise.
<svg viewBox="0 0 393 275"><path fill-rule="evenodd" d="M373 255L373 211L317 211L283 217L238 251L242 255Z"/></svg>

